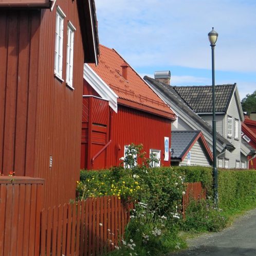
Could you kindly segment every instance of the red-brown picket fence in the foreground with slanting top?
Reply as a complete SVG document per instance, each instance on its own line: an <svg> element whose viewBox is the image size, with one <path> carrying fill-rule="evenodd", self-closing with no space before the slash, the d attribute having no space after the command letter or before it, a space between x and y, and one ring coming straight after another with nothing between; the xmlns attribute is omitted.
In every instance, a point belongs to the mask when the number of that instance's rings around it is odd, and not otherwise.
<svg viewBox="0 0 256 256"><path fill-rule="evenodd" d="M100 255L118 245L132 205L114 196L42 211L41 256Z"/></svg>

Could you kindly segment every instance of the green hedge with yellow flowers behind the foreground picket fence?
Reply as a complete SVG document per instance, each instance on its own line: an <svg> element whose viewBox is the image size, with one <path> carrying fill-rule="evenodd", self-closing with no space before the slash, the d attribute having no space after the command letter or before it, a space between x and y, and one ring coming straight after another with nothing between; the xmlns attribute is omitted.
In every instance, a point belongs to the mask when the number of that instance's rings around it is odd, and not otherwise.
<svg viewBox="0 0 256 256"><path fill-rule="evenodd" d="M78 198L117 195L120 198L139 200L159 214L176 211L184 192L183 171L173 168L124 169L81 171L77 191Z"/></svg>

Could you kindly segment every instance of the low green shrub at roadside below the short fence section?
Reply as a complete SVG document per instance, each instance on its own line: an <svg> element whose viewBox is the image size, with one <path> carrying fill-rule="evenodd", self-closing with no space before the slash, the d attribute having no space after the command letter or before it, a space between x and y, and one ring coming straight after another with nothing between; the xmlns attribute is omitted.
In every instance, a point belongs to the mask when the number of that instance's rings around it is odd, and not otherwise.
<svg viewBox="0 0 256 256"><path fill-rule="evenodd" d="M219 231L227 225L227 217L213 207L212 200L193 200L186 210L183 229L205 232Z"/></svg>

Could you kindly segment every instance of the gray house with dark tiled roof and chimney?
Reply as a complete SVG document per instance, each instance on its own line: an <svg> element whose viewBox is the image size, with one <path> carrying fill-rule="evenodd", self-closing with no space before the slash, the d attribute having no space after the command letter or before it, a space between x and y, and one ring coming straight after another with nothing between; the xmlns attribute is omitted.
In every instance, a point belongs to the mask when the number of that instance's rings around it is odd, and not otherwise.
<svg viewBox="0 0 256 256"><path fill-rule="evenodd" d="M170 75L170 71L155 72L155 79L145 76L144 80L178 116L172 131L200 130L212 150L212 86L171 86ZM244 116L236 84L216 85L215 98L218 167L241 168L246 162L247 168L251 151L241 142Z"/></svg>

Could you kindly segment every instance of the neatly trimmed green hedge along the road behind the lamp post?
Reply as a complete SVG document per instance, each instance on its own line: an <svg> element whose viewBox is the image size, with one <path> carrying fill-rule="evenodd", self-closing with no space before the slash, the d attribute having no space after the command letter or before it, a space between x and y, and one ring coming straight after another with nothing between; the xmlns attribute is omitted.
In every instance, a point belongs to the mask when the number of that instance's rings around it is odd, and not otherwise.
<svg viewBox="0 0 256 256"><path fill-rule="evenodd" d="M212 197L212 168L209 167L174 167L185 173L186 182L201 181ZM218 206L221 209L243 209L256 204L256 171L218 169Z"/></svg>

